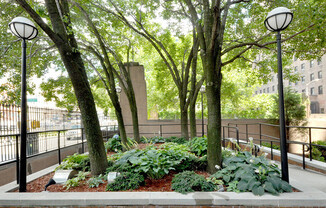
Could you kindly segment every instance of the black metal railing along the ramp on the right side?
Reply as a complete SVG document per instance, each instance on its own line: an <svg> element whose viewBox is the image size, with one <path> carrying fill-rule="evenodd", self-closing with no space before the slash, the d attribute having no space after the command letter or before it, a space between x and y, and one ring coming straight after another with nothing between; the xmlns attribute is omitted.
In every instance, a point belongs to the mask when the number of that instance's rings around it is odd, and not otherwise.
<svg viewBox="0 0 326 208"><path fill-rule="evenodd" d="M238 123L228 123L227 126L231 127L231 125L235 126L236 128L239 128L240 126L244 126L245 127L245 131L236 131L236 132L232 132L232 131L228 131L228 135L231 133L235 133L239 136L240 139L246 140L248 143L248 138L249 135L253 136L253 141L256 143L259 143L260 146L263 146L263 142L266 143L270 143L270 148L271 148L271 159L274 159L274 154L273 154L273 145L275 143L280 145L280 138L279 137L275 137L275 136L271 136L268 134L263 134L263 130L262 127L263 126L271 126L271 127L276 127L279 128L279 125L275 125L275 124L268 124L268 123L251 123L251 124L238 124ZM259 133L255 133L255 132L250 132L248 130L249 126L252 125L258 125L258 132ZM300 145L302 146L302 166L303 169L306 168L306 153L309 153L309 159L310 161L312 161L312 151L313 151L313 147L321 147L326 149L326 146L324 145L318 145L318 144L314 144L312 143L312 130L326 130L326 127L309 127L309 126L286 126L287 131L289 131L289 129L299 129L299 130L307 130L307 132L302 133L301 134L306 134L308 136L308 138L306 140L308 140L308 142L302 142L302 141L291 141L291 140L287 140L287 144L294 144L294 145ZM242 135L245 135L245 137L241 137ZM306 136L304 135L304 137ZM258 137L258 139L255 139L255 136Z"/></svg>

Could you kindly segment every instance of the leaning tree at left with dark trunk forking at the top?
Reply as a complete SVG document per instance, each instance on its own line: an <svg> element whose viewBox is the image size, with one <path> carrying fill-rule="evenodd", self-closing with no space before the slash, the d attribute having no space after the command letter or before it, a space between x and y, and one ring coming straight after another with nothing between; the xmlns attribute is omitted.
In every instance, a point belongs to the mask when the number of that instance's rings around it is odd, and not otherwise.
<svg viewBox="0 0 326 208"><path fill-rule="evenodd" d="M93 175L104 173L107 159L97 117L94 98L87 79L84 63L72 28L68 1L46 0L33 7L25 0L16 0L53 41L69 74L85 128ZM46 23L42 16L50 20Z"/></svg>

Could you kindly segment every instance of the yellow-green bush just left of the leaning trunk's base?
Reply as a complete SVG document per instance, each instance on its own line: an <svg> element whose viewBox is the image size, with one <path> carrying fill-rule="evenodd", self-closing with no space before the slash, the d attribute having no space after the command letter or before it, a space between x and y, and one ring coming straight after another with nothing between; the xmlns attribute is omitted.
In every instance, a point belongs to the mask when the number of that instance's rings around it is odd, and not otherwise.
<svg viewBox="0 0 326 208"><path fill-rule="evenodd" d="M87 154L75 153L66 157L55 170L80 170L90 171L90 159Z"/></svg>

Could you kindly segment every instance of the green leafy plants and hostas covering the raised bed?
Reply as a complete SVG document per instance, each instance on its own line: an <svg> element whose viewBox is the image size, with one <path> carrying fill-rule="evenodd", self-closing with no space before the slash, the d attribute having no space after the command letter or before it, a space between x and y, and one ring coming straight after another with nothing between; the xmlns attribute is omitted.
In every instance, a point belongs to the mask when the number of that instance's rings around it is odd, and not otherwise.
<svg viewBox="0 0 326 208"><path fill-rule="evenodd" d="M173 138L177 140L176 138ZM255 195L271 193L277 195L291 192L292 187L281 180L280 169L264 155L255 157L251 154L253 148L250 140L249 151L242 151L235 142L235 151L223 150L223 167L216 166L217 172L204 177L194 171L205 170L207 156L204 138L194 138L185 144L166 142L160 145L146 144L143 149L118 151L108 156L109 172L119 172L113 183L107 184L107 175L89 178L87 173L80 171L77 177L65 184L66 189L87 183L89 187L99 187L106 183L107 191L125 191L139 189L148 182L161 180L174 175L171 179L171 190L180 193L193 191L232 191L253 192ZM58 169L87 169L84 164L87 155L68 157Z"/></svg>

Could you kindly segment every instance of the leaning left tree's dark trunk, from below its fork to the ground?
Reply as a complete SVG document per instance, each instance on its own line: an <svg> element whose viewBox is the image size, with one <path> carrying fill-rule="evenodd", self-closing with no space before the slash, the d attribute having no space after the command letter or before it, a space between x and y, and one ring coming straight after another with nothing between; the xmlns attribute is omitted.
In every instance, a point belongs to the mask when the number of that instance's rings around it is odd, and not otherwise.
<svg viewBox="0 0 326 208"><path fill-rule="evenodd" d="M108 166L93 94L79 52L72 52L66 45L57 45L61 59L68 71L87 138L92 175L103 174Z"/></svg>

